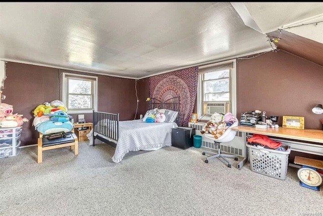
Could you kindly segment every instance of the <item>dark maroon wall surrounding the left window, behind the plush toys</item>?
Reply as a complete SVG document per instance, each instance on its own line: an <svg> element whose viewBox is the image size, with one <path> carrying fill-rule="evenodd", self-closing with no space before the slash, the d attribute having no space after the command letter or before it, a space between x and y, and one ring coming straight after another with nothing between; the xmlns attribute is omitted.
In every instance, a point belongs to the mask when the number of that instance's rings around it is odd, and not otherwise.
<svg viewBox="0 0 323 216"><path fill-rule="evenodd" d="M13 105L14 113L23 114L23 117L29 119L29 122L23 124L22 146L37 143L38 132L32 126L34 119L32 112L36 106L52 100L61 100L60 81L63 72L97 76L98 111L119 112L121 120L131 120L135 117L137 104L135 80L15 62L8 62L6 67L7 79L3 89L6 99L2 102ZM72 116L77 121L77 114ZM85 114L85 119L91 122L92 114Z"/></svg>

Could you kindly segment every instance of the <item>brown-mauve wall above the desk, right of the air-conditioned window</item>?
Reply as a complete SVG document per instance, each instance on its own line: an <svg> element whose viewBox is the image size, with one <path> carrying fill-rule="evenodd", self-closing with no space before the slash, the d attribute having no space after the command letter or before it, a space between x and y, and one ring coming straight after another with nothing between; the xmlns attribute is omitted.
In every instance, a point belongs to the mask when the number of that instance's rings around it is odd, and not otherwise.
<svg viewBox="0 0 323 216"><path fill-rule="evenodd" d="M304 116L305 128L321 129L323 67L288 52L268 52L237 63L237 115L251 110L267 116ZM240 116L237 116L240 119Z"/></svg>

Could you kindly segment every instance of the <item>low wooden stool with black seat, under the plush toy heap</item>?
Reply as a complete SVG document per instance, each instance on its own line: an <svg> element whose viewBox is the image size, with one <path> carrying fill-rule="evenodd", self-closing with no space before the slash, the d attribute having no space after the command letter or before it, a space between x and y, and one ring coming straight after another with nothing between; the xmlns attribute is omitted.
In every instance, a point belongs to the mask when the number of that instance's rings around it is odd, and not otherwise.
<svg viewBox="0 0 323 216"><path fill-rule="evenodd" d="M42 152L51 149L58 149L63 147L70 147L71 150L74 150L75 155L79 154L79 142L77 136L72 133L71 137L62 137L56 139L47 139L43 137L42 133L39 133L38 138L38 155L37 155L37 162L42 162Z"/></svg>

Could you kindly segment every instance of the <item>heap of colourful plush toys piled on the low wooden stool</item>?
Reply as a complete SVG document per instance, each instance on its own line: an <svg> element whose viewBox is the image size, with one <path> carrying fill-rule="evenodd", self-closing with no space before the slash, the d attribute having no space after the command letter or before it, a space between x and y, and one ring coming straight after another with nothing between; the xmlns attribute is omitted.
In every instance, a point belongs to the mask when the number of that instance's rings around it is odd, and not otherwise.
<svg viewBox="0 0 323 216"><path fill-rule="evenodd" d="M33 126L42 134L70 132L74 125L70 122L67 108L62 101L54 100L38 105L33 111Z"/></svg>

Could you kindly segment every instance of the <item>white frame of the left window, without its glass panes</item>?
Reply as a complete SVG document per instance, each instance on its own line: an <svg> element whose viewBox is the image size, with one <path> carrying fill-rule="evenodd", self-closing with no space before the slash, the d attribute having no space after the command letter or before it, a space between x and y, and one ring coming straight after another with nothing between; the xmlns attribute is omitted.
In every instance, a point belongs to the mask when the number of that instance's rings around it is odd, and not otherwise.
<svg viewBox="0 0 323 216"><path fill-rule="evenodd" d="M87 76L87 75L78 75L71 73L63 73L63 85L62 85L62 102L66 105L68 109L68 79L69 77L75 77L76 79L84 79L84 81L91 80L93 81L93 109L97 111L97 77ZM78 110L67 110L68 114L78 114L78 113L92 113L92 109L78 109Z"/></svg>

